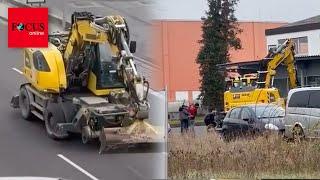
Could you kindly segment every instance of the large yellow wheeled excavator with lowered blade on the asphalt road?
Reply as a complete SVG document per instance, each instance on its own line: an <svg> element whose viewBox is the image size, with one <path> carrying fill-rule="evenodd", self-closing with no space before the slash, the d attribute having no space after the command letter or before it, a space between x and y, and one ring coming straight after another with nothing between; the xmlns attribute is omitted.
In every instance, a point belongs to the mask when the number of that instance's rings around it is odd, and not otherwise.
<svg viewBox="0 0 320 180"><path fill-rule="evenodd" d="M146 122L149 83L137 72L135 48L123 17L74 12L69 33L49 35L48 48L24 49L27 83L11 106L26 120L43 120L50 138L76 132L83 143L99 139L100 153L118 144L159 142Z"/></svg>

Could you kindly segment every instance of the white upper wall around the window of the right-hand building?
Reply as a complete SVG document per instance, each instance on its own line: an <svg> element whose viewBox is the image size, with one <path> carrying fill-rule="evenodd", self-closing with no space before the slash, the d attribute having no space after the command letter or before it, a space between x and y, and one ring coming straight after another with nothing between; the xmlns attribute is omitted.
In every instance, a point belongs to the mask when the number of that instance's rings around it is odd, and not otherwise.
<svg viewBox="0 0 320 180"><path fill-rule="evenodd" d="M309 56L320 55L320 29L311 31L302 31L286 34L277 34L267 36L267 47L269 45L278 45L279 39L308 37L308 54Z"/></svg>

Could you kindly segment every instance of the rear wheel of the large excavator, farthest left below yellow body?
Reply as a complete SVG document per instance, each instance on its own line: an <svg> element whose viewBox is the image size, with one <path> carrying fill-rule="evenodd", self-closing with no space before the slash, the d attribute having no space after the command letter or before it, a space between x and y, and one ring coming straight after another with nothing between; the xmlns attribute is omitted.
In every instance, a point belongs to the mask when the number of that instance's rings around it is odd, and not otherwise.
<svg viewBox="0 0 320 180"><path fill-rule="evenodd" d="M25 87L20 88L19 93L19 107L21 110L21 115L25 120L32 120L30 97Z"/></svg>

